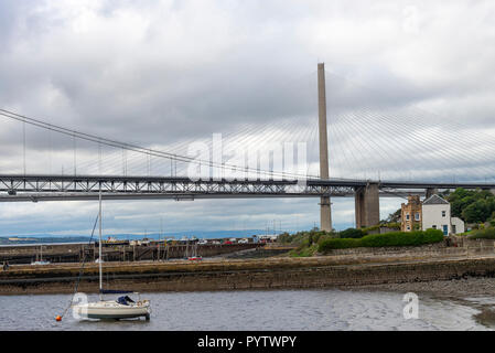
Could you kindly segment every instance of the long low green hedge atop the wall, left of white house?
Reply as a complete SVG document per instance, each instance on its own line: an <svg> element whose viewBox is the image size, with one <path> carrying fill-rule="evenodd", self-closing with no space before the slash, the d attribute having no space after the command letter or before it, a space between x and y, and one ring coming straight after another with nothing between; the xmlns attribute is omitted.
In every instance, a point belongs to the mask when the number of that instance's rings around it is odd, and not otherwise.
<svg viewBox="0 0 495 353"><path fill-rule="evenodd" d="M318 250L320 253L327 253L332 249L352 247L418 246L439 243L441 240L443 240L443 234L439 229L428 229L424 232L390 232L366 235L359 239L324 239L320 243Z"/></svg>

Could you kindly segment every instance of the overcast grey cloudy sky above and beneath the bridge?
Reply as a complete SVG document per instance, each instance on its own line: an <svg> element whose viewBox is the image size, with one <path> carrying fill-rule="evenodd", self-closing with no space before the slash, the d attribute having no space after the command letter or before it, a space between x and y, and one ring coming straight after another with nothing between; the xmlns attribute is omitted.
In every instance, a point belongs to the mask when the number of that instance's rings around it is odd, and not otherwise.
<svg viewBox="0 0 495 353"><path fill-rule="evenodd" d="M332 176L494 180L494 41L493 1L0 0L0 108L161 150L214 132L306 140L318 172L324 62ZM1 119L0 172L21 172L23 127ZM74 170L71 138L30 126L25 137L26 172ZM168 161L76 145L79 173L170 173ZM333 202L335 226L352 226L354 201ZM401 202L381 200L381 215ZM79 234L96 211L2 204L0 226ZM319 208L312 199L106 205L109 233L157 232L160 220L168 232L273 220L297 229L318 224Z"/></svg>

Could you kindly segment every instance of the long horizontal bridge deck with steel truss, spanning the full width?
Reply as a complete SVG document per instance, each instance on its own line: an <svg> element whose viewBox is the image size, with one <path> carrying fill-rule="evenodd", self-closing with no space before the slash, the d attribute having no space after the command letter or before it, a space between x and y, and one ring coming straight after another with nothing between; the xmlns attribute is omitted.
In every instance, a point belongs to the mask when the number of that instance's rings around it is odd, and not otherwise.
<svg viewBox="0 0 495 353"><path fill-rule="evenodd" d="M399 182L351 179L298 180L191 180L185 176L45 175L0 174L0 202L96 200L332 197L354 196L356 191L377 184L381 196L424 194L428 189L495 189L488 183Z"/></svg>

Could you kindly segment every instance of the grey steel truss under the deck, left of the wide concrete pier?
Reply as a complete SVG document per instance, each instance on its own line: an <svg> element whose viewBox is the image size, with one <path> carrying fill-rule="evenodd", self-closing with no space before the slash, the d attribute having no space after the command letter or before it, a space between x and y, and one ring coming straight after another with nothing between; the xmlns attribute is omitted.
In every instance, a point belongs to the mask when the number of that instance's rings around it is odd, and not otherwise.
<svg viewBox="0 0 495 353"><path fill-rule="evenodd" d="M154 176L0 175L0 201L349 196L352 185L297 180L191 180ZM1 194L4 192L4 194Z"/></svg>

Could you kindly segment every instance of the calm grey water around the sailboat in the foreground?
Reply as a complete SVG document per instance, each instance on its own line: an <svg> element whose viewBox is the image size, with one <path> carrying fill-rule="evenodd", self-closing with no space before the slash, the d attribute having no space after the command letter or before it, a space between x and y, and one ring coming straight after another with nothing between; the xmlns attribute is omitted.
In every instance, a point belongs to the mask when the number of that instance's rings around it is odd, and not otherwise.
<svg viewBox="0 0 495 353"><path fill-rule="evenodd" d="M492 298L419 296L419 319L403 319L402 293L273 290L141 295L150 321L77 321L61 314L71 296L0 296L0 330L492 330ZM95 298L95 297L90 297Z"/></svg>

